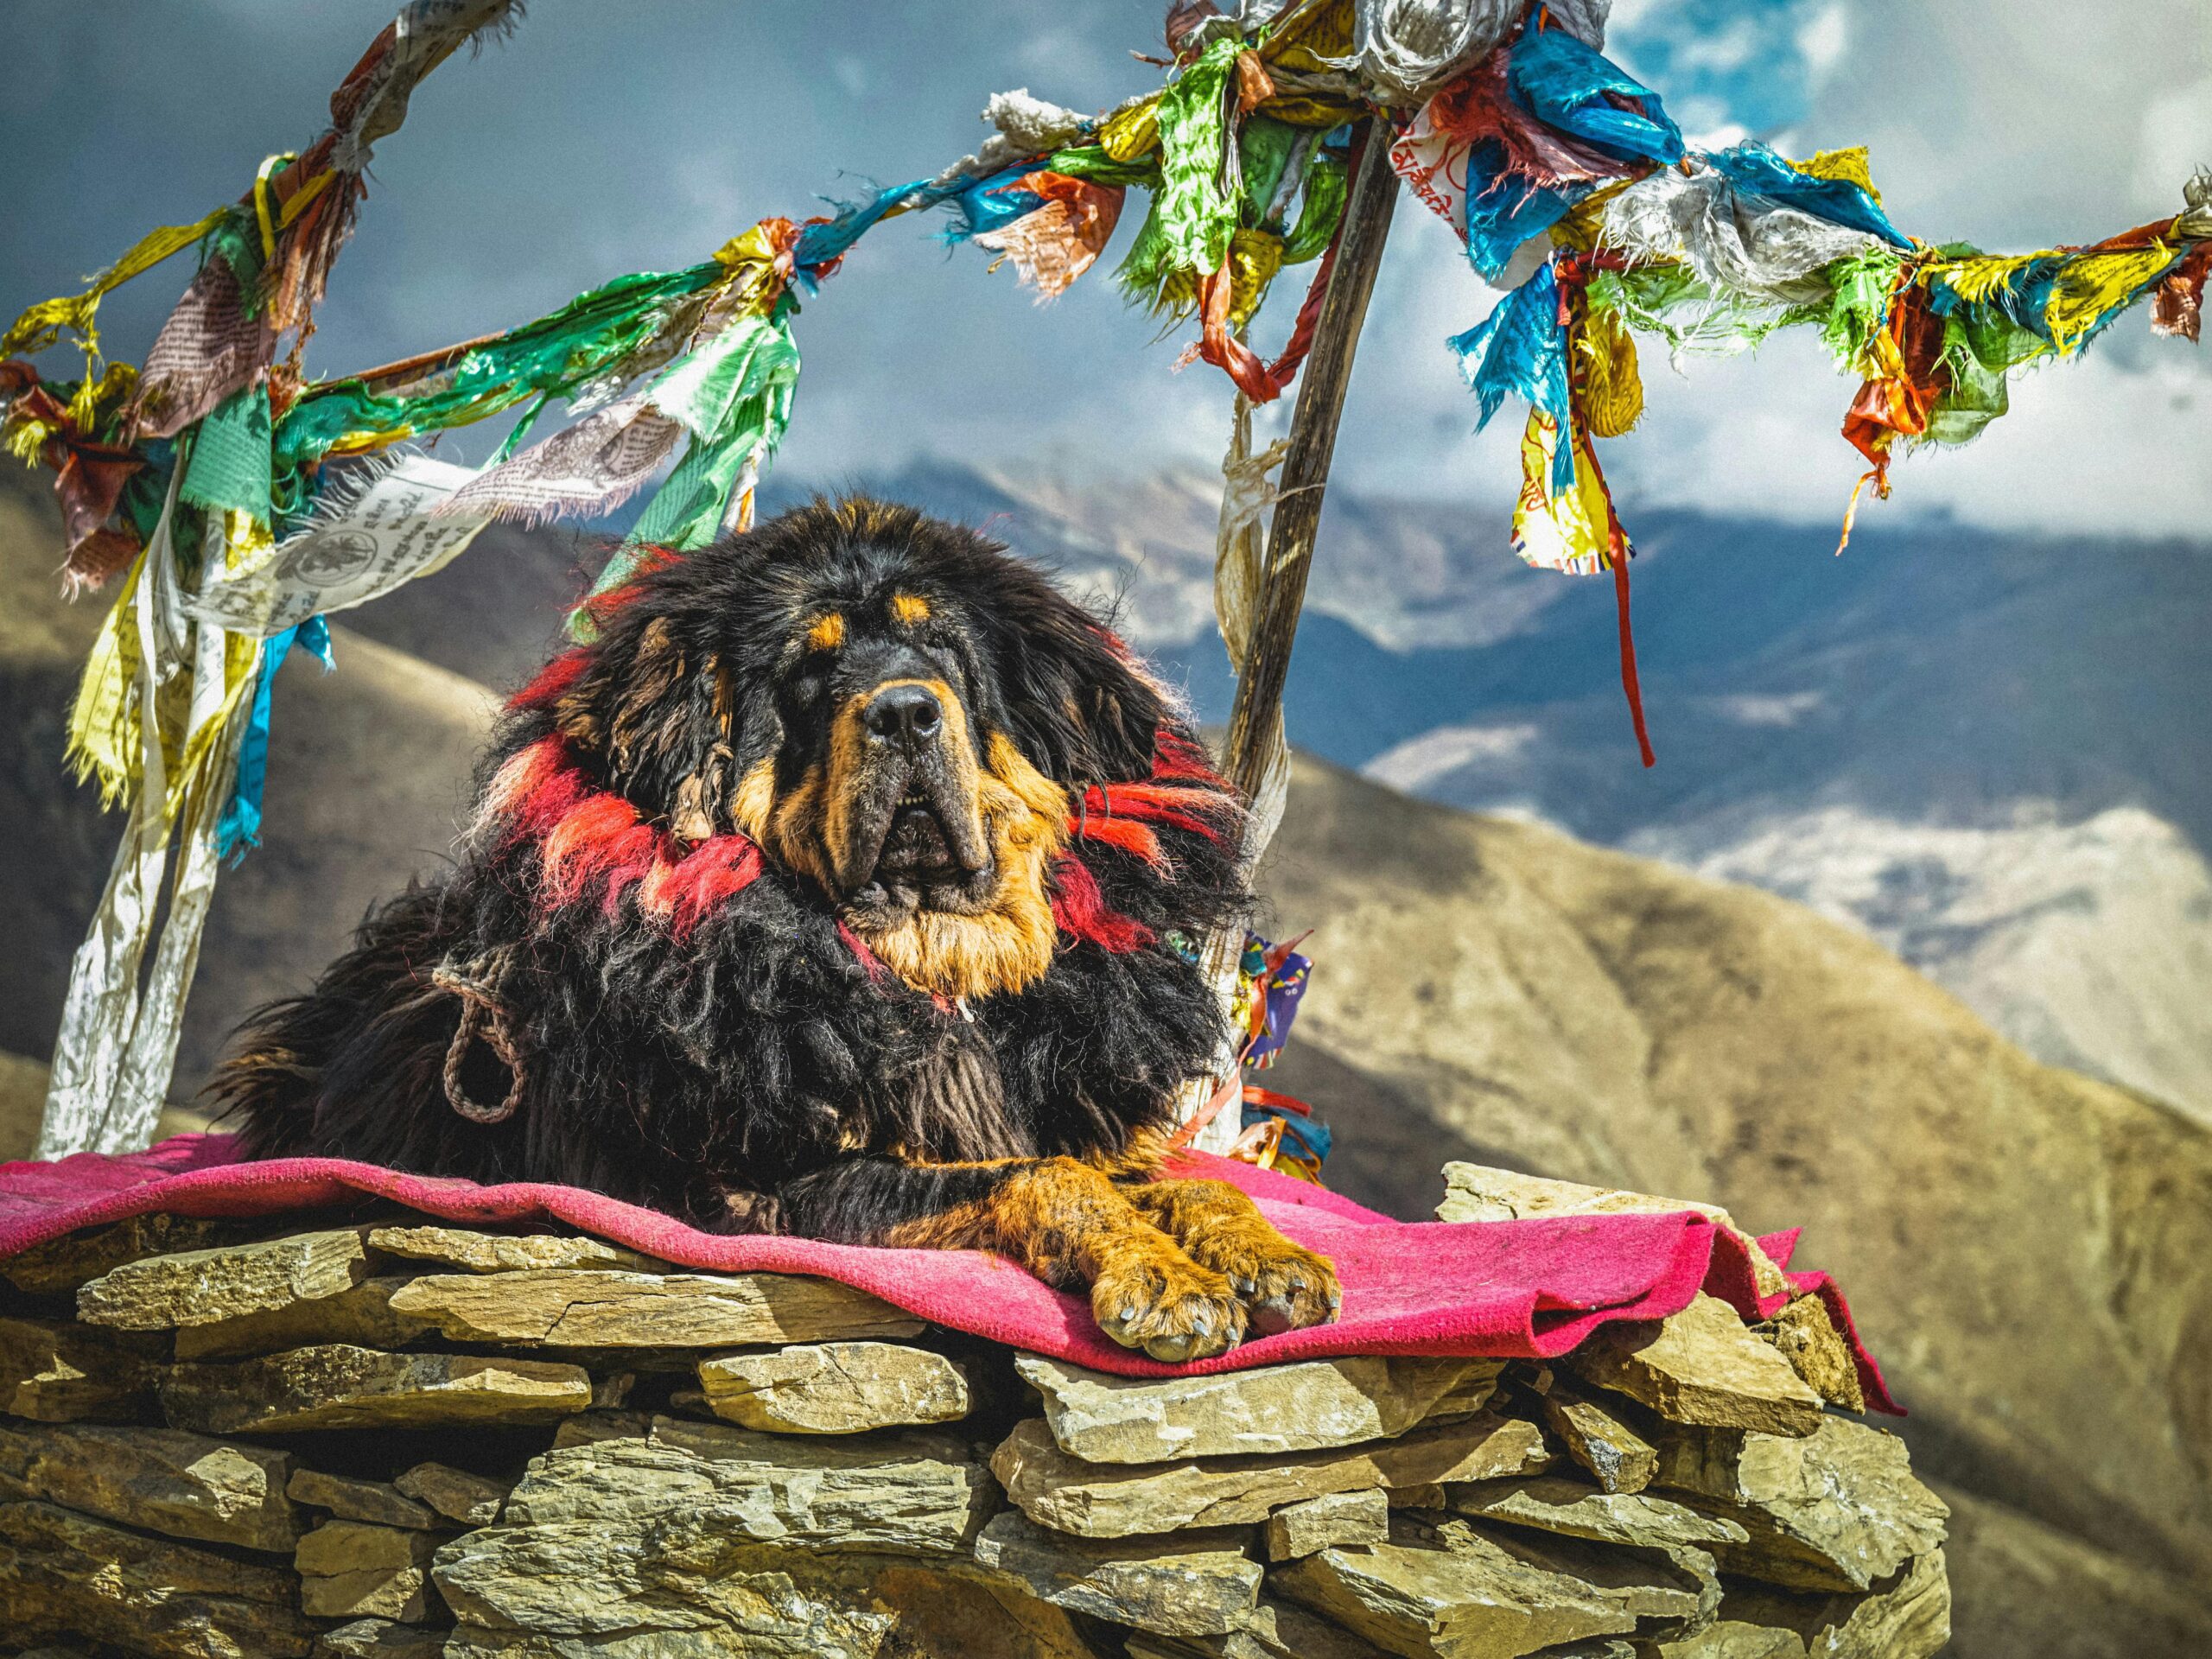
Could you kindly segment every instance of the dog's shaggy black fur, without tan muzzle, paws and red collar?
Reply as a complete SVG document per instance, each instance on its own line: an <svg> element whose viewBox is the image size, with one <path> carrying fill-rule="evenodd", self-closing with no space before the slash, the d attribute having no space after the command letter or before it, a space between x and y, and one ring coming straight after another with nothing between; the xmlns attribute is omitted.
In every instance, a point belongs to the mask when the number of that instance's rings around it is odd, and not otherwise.
<svg viewBox="0 0 2212 1659"><path fill-rule="evenodd" d="M701 770L728 783L774 757L787 787L841 690L805 619L869 613L894 588L931 604L925 650L973 730L1009 734L1071 796L1148 779L1164 737L1192 741L1102 624L998 544L909 509L814 502L668 557L602 606L560 703L571 754L664 827ZM555 703L518 695L478 794L553 730ZM719 772L717 743L732 750ZM1042 980L967 1018L865 962L832 898L774 860L679 940L641 916L637 887L611 907L597 891L549 902L540 843L480 810L453 869L374 911L310 993L248 1020L210 1093L252 1157L560 1181L710 1228L880 1237L978 1186L931 1164L1110 1157L1168 1126L1175 1091L1210 1071L1223 1020L1183 949L1248 909L1237 834L1155 830L1170 872L1095 841L1068 852L1157 942L1108 953L1062 933ZM522 1102L487 1126L447 1104L460 1000L431 975L500 947ZM480 1102L507 1093L484 1044L465 1077Z"/></svg>

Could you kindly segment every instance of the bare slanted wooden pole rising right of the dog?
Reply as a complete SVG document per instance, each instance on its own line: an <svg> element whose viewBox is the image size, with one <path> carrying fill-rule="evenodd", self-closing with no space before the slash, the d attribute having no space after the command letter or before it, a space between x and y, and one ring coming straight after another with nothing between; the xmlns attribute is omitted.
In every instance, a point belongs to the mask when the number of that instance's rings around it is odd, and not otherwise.
<svg viewBox="0 0 2212 1659"><path fill-rule="evenodd" d="M1259 799L1267 779L1283 681L1290 675L1290 648L1298 633L1298 611L1305 606L1305 577L1314 566L1321 498L1329 482L1329 458L1336 453L1336 422L1345 411L1352 354L1367 319L1376 272L1383 268L1383 241L1389 237L1396 206L1398 177L1389 166L1389 133L1369 119L1352 199L1345 204L1336 268L1321 301L1314 349L1305 358L1298 409L1290 418L1283 493L1274 504L1267 560L1261 566L1259 615L1252 619L1252 641L1237 675L1237 703L1230 710L1228 776L1248 801ZM1245 852L1248 860L1256 860L1261 847Z"/></svg>

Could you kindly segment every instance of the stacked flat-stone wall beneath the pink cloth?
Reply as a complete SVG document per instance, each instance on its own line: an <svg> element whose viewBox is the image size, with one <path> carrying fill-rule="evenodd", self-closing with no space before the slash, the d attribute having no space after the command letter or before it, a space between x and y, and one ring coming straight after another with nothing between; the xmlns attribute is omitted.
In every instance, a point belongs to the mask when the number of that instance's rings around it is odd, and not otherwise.
<svg viewBox="0 0 2212 1659"><path fill-rule="evenodd" d="M1471 1179L1451 1203L1495 1208ZM418 1221L142 1219L0 1274L0 1650L1916 1659L1947 1639L1944 1509L1896 1438L1827 1409L1856 1383L1805 1303L1745 1327L1699 1298L1555 1365L1128 1380L830 1281Z"/></svg>

